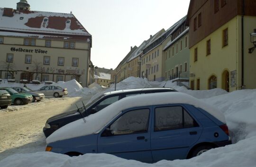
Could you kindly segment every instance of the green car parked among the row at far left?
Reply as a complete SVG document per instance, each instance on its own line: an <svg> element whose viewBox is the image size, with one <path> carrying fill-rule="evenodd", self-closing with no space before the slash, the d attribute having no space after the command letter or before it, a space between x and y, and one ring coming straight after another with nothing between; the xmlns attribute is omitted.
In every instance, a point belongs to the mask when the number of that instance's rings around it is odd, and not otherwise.
<svg viewBox="0 0 256 167"><path fill-rule="evenodd" d="M18 93L12 88L0 88L2 90L6 90L11 95L11 102L15 105L22 105L30 103L33 99L31 94L28 93Z"/></svg>

